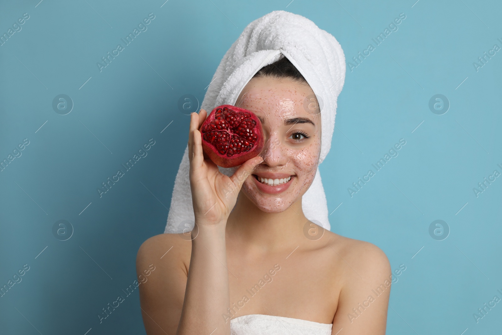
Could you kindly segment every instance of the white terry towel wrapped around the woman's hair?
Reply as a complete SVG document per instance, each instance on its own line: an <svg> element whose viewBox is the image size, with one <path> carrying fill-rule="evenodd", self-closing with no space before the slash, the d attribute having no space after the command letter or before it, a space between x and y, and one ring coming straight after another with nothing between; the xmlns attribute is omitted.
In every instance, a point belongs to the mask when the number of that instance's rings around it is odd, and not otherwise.
<svg viewBox="0 0 502 335"><path fill-rule="evenodd" d="M309 19L285 12L271 12L247 25L225 53L206 91L201 108L209 114L222 104L235 105L242 88L263 67L282 53L309 83L321 106L321 154L331 148L336 100L345 81L345 56L338 41ZM165 233L193 228L195 219L189 179L188 146L174 182ZM230 176L235 168L219 170ZM330 230L326 195L317 168L312 185L302 197L305 216ZM317 221L317 222L316 222Z"/></svg>

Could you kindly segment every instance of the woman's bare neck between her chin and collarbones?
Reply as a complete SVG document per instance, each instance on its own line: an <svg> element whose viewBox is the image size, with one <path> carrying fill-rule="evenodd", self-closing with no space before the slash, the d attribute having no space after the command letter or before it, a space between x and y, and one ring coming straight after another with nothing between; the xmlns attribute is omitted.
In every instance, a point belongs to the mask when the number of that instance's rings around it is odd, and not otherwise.
<svg viewBox="0 0 502 335"><path fill-rule="evenodd" d="M305 239L303 227L307 218L302 210L302 198L286 210L268 213L258 208L240 192L226 224L226 236L231 244L264 252L289 250Z"/></svg>

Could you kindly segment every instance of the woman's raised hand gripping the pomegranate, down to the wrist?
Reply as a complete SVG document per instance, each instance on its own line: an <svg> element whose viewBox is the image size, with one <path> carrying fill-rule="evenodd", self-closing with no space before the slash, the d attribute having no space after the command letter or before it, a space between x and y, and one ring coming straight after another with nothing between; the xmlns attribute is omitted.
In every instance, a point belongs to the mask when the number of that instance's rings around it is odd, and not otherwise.
<svg viewBox="0 0 502 335"><path fill-rule="evenodd" d="M255 167L263 162L261 156L244 162L231 176L219 172L218 166L204 159L202 138L199 128L206 120L207 112L192 113L188 136L188 157L190 159L190 188L195 214L195 222L212 225L225 222L237 200L244 180Z"/></svg>

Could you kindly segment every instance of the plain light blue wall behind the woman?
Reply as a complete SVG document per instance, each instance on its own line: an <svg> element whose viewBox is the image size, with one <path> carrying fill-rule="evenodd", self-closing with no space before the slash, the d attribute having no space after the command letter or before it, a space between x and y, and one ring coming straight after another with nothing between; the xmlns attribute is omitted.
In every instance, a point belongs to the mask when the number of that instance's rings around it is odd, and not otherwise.
<svg viewBox="0 0 502 335"><path fill-rule="evenodd" d="M136 279L142 242L164 231L187 142L189 117L178 99L202 101L244 27L274 10L331 33L347 62L406 15L347 68L320 166L332 231L379 246L393 269L406 265L392 286L388 334L500 332L502 303L478 323L472 316L495 294L502 298L502 177L473 192L502 172L502 52L477 72L472 64L502 47L499 3L38 2L0 5L2 34L30 15L0 46L0 158L30 141L0 172L0 286L30 266L0 298L2 333L145 333L137 290L101 324L97 314ZM148 30L100 72L96 62L149 13ZM58 94L74 102L65 116L52 108ZM435 94L448 98L446 114L429 109ZM148 156L100 198L96 188L151 138ZM347 188L402 138L399 156L350 197ZM74 228L67 241L52 234L60 219ZM429 235L436 219L451 230L443 241Z"/></svg>

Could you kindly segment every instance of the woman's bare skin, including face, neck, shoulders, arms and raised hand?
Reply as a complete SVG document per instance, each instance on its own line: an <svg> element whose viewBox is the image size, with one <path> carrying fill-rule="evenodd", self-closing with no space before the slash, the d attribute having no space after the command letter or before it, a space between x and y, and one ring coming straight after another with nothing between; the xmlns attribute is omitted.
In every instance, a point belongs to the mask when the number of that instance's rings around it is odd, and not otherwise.
<svg viewBox="0 0 502 335"><path fill-rule="evenodd" d="M192 241L161 234L138 251L138 275L156 266L140 286L149 335L229 334L230 319L248 314L333 323L333 335L341 328L343 334L385 334L391 289L386 255L370 243L323 232L302 211L321 147L321 116L304 108L311 94L308 85L290 80L249 81L236 105L263 120L266 144L261 157L236 168L232 177L203 158L198 129L207 112L191 115L190 182L198 229ZM293 118L312 124L285 124ZM262 191L254 175L270 172L291 175L289 188ZM389 285L375 295L372 290L384 283Z"/></svg>

